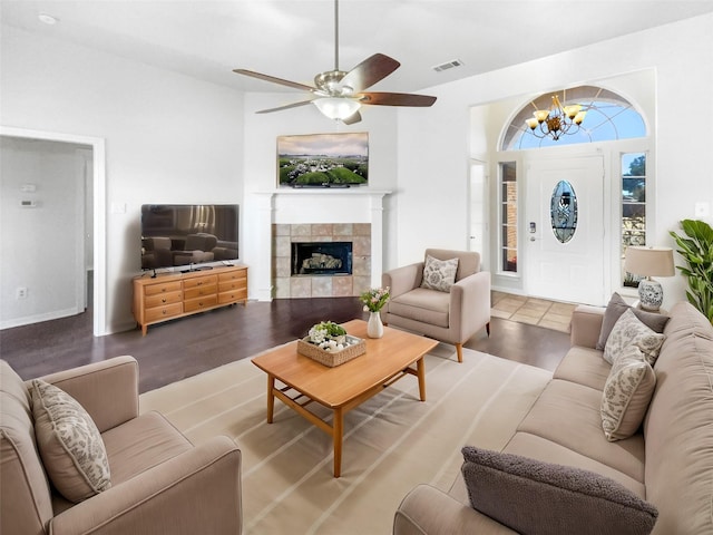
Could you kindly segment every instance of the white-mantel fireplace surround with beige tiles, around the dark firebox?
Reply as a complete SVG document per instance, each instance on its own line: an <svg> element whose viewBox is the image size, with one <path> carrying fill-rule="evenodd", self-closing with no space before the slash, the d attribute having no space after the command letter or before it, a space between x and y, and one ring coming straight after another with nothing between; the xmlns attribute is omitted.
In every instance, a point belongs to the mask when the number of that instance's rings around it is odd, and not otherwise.
<svg viewBox="0 0 713 535"><path fill-rule="evenodd" d="M360 188L255 192L245 204L255 232L251 284L258 301L359 295L381 284L390 191ZM291 276L293 241L352 242L351 275ZM248 246L250 250L250 246Z"/></svg>

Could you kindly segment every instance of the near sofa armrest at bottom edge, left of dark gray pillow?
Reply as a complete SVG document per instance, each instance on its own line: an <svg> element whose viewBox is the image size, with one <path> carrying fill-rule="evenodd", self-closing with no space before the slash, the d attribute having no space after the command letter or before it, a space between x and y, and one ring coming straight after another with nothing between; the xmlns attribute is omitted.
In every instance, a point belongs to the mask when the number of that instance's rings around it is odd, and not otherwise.
<svg viewBox="0 0 713 535"><path fill-rule="evenodd" d="M413 488L393 518L393 535L517 535L512 529L429 485Z"/></svg>

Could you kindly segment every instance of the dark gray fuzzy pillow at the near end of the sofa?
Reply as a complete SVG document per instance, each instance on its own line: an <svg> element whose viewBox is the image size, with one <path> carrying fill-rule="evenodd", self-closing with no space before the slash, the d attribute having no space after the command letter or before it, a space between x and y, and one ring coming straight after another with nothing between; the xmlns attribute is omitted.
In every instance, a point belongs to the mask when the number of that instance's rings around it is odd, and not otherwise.
<svg viewBox="0 0 713 535"><path fill-rule="evenodd" d="M470 446L462 454L470 505L522 535L643 535L656 524L656 507L593 471Z"/></svg>

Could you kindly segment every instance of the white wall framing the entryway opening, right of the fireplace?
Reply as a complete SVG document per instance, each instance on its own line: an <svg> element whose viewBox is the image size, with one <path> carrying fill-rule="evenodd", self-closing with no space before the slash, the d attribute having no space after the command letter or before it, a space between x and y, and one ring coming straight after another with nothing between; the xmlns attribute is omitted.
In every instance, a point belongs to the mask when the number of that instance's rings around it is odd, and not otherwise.
<svg viewBox="0 0 713 535"><path fill-rule="evenodd" d="M668 231L680 220L694 217L694 203L713 206L713 124L707 120L713 116L712 27L713 16L706 14L431 88L439 98L432 114L399 114L403 192L398 201L395 264L420 259L427 244L466 245L469 107L642 69L656 72L657 203L651 239L673 246ZM661 282L664 304L685 299L681 275Z"/></svg>

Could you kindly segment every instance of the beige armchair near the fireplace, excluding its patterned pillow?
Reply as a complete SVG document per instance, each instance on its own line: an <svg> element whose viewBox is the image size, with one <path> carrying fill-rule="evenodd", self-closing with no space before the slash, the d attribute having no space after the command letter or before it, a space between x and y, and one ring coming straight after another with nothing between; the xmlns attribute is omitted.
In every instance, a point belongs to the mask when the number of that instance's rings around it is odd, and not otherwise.
<svg viewBox="0 0 713 535"><path fill-rule="evenodd" d="M458 259L450 291L423 288L428 256L440 261ZM484 327L490 334L490 273L480 271L480 254L470 251L427 249L424 262L383 273L381 283L391 289L382 320L392 327L452 343L462 362L462 346Z"/></svg>

